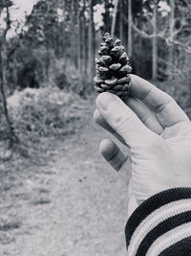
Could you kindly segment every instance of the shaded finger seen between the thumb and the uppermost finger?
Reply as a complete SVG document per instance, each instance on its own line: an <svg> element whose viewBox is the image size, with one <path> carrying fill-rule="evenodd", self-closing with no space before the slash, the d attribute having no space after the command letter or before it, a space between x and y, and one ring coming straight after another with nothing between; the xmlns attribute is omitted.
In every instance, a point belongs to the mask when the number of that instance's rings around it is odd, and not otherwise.
<svg viewBox="0 0 191 256"><path fill-rule="evenodd" d="M147 128L161 134L163 128L159 124L159 120L153 111L131 96L127 98L125 103L131 107L131 109L138 115L138 118Z"/></svg>

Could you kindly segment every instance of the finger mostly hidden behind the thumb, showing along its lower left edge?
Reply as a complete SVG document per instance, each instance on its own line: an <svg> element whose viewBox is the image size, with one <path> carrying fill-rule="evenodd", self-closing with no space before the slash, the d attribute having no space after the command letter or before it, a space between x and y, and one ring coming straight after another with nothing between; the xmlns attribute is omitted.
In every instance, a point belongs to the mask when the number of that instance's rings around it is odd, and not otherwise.
<svg viewBox="0 0 191 256"><path fill-rule="evenodd" d="M110 133L112 133L122 144L126 145L124 140L121 138L121 136L116 132L115 129L111 128L108 123L105 121L105 118L100 114L98 109L95 110L94 113L94 119L96 121L96 124L98 124L100 127L105 128Z"/></svg>

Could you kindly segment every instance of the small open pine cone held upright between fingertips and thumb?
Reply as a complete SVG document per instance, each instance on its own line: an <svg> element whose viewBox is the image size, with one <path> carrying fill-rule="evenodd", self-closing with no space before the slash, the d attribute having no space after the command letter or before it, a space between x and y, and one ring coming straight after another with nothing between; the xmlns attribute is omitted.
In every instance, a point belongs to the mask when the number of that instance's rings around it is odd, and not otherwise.
<svg viewBox="0 0 191 256"><path fill-rule="evenodd" d="M103 42L96 58L95 89L97 92L112 92L121 99L128 95L130 82L129 73L132 67L120 40L115 42L109 33L103 35Z"/></svg>

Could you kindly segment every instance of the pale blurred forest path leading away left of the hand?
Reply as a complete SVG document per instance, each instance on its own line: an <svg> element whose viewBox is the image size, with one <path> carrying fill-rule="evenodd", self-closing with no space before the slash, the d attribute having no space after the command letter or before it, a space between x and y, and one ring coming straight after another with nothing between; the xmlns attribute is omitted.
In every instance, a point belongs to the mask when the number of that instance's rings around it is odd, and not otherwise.
<svg viewBox="0 0 191 256"><path fill-rule="evenodd" d="M102 138L90 119L20 183L12 175L1 197L0 255L125 255L126 188L98 153Z"/></svg>

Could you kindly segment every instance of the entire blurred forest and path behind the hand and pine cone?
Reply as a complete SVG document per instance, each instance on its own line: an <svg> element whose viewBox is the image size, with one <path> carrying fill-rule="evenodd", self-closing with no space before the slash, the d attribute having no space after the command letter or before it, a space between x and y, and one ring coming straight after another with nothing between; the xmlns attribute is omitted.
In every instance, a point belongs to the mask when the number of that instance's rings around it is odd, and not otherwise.
<svg viewBox="0 0 191 256"><path fill-rule="evenodd" d="M0 255L125 255L92 120L105 32L191 117L190 0L0 0Z"/></svg>

